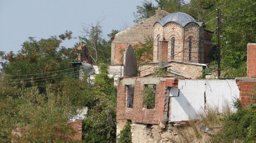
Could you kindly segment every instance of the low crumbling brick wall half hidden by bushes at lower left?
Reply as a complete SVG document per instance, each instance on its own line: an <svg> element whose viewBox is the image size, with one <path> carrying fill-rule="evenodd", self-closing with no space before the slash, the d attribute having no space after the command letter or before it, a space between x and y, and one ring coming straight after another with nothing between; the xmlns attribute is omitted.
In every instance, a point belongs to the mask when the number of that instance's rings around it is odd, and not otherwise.
<svg viewBox="0 0 256 143"><path fill-rule="evenodd" d="M73 128L73 130L76 132L75 135L69 136L70 139L82 140L82 120L78 119L75 121L68 121L65 124L70 125L71 128ZM25 131L26 128L27 127L14 129L12 130L12 135L22 136L22 132ZM14 141L12 140L12 142Z"/></svg>

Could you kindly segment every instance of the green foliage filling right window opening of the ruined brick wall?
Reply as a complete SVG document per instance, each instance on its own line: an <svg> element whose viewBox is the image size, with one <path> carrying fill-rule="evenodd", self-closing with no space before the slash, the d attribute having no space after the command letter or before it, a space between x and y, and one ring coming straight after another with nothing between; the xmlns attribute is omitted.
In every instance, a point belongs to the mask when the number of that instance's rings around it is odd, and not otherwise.
<svg viewBox="0 0 256 143"><path fill-rule="evenodd" d="M147 109L155 108L156 85L146 85L143 89L143 100L147 103Z"/></svg>

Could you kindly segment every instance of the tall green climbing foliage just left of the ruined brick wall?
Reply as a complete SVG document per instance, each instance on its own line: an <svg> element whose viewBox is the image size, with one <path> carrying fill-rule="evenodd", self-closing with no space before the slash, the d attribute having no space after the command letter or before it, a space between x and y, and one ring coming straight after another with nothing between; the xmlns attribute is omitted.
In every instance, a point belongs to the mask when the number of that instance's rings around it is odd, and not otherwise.
<svg viewBox="0 0 256 143"><path fill-rule="evenodd" d="M116 87L113 79L108 77L109 67L99 64L100 73L95 76L93 105L90 106L87 118L83 120L83 142L112 143L116 142Z"/></svg>

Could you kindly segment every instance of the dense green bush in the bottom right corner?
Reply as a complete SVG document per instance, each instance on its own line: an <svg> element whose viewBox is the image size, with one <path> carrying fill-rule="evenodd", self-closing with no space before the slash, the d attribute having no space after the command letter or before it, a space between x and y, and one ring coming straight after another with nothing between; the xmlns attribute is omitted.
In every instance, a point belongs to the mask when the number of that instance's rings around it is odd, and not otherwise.
<svg viewBox="0 0 256 143"><path fill-rule="evenodd" d="M240 109L224 120L224 128L212 136L214 143L255 143L256 110Z"/></svg>

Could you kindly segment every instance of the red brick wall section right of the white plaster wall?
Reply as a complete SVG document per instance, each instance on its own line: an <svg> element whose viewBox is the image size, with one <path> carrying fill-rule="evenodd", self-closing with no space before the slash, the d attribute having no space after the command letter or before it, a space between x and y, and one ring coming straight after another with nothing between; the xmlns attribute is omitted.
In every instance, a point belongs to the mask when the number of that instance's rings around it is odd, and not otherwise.
<svg viewBox="0 0 256 143"><path fill-rule="evenodd" d="M242 102L244 106L249 103L254 102L252 97L249 97L247 94L251 94L255 96L252 88L256 86L256 78L237 78L237 86L240 90L239 100Z"/></svg>

